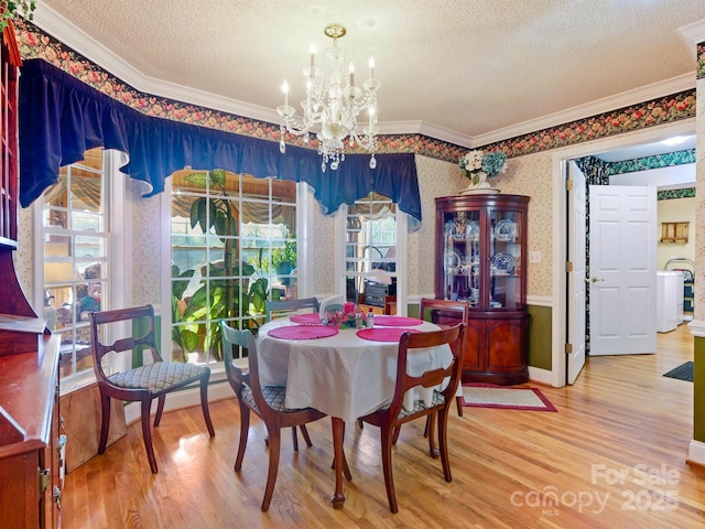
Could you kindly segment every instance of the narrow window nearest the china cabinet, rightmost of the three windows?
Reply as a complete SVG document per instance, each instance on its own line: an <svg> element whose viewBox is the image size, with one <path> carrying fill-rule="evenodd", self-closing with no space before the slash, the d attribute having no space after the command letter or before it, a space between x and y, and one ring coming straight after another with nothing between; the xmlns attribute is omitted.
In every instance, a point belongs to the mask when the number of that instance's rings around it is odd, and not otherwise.
<svg viewBox="0 0 705 529"><path fill-rule="evenodd" d="M390 198L370 193L345 207L345 289L354 303L384 306L397 294L399 215Z"/></svg>

